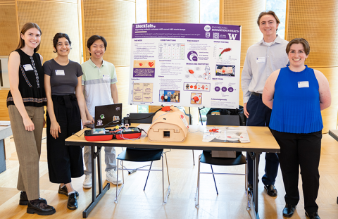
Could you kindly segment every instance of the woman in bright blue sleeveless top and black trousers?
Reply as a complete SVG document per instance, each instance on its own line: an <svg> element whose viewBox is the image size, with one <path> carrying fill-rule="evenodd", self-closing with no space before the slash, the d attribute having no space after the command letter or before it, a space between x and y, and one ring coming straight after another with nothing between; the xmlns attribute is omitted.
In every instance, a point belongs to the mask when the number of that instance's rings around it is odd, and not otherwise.
<svg viewBox="0 0 338 219"><path fill-rule="evenodd" d="M270 129L280 145L278 156L286 192L283 215L291 217L299 202L300 166L306 216L319 218L315 199L323 129L320 111L331 104L330 87L323 73L304 65L310 53L305 39L292 39L286 51L290 65L268 77L262 98L273 110Z"/></svg>

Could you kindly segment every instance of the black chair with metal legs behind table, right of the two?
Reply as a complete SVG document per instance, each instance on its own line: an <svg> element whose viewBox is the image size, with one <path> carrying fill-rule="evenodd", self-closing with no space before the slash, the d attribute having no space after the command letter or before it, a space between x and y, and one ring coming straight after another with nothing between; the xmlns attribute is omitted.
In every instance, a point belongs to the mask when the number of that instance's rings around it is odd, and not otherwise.
<svg viewBox="0 0 338 219"><path fill-rule="evenodd" d="M234 125L239 126L239 115L207 115L206 116L206 125ZM211 173L201 173L201 163L210 164ZM213 165L242 165L245 164L245 173L214 173ZM218 189L215 181L215 174L218 175L245 175L245 190L247 196L247 206L246 210L250 209L250 199L251 196L248 192L248 172L246 165L246 157L242 154L242 152L236 152L236 158L213 158L211 156L211 151L203 151L203 153L199 156L199 174L197 177L197 188L195 195L195 206L199 208L199 179L200 174L212 174L213 182L215 182L216 193L218 194Z"/></svg>

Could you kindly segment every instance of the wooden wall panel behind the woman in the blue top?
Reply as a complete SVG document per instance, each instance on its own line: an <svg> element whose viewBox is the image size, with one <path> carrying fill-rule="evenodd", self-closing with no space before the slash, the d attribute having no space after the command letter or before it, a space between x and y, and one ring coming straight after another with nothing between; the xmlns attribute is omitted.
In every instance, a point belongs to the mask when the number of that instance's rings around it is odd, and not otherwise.
<svg viewBox="0 0 338 219"><path fill-rule="evenodd" d="M337 129L338 110L338 1L289 0L286 38L304 38L310 44L305 64L324 73L330 83L332 104L322 111L324 129Z"/></svg>

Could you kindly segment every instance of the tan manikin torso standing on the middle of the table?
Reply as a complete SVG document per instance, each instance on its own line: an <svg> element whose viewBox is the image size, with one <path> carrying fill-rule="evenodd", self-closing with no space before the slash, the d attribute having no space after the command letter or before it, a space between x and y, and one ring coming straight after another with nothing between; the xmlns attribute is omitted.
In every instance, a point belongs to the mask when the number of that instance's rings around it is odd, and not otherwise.
<svg viewBox="0 0 338 219"><path fill-rule="evenodd" d="M151 142L184 142L188 134L188 116L178 108L171 106L171 111L158 111L148 130Z"/></svg>

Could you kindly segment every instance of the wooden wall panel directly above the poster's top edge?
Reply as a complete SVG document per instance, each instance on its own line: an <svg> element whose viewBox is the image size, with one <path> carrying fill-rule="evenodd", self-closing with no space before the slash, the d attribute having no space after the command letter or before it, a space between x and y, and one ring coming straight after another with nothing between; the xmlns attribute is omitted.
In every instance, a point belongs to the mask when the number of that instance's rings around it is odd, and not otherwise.
<svg viewBox="0 0 338 219"><path fill-rule="evenodd" d="M149 0L149 23L199 23L199 0Z"/></svg>

